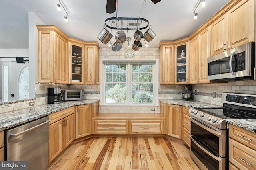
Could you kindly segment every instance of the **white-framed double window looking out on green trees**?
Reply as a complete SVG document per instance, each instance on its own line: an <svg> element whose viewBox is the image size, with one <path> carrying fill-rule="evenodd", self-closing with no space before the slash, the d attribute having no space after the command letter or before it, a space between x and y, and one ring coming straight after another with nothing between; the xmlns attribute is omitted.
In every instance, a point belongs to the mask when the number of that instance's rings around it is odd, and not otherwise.
<svg viewBox="0 0 256 170"><path fill-rule="evenodd" d="M157 104L155 63L156 61L104 61L102 104Z"/></svg>

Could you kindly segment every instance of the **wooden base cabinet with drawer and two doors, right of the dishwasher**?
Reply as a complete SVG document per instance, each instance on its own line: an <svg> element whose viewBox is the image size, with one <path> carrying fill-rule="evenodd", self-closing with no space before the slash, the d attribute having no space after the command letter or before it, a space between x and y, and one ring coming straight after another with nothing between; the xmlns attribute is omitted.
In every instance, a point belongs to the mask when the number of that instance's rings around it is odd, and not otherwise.
<svg viewBox="0 0 256 170"><path fill-rule="evenodd" d="M48 162L74 140L74 107L49 115Z"/></svg>

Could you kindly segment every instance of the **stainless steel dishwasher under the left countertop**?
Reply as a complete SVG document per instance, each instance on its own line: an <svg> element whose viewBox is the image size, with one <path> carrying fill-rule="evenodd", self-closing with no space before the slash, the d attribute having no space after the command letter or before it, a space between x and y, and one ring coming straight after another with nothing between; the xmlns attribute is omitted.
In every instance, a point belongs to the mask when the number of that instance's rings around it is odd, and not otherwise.
<svg viewBox="0 0 256 170"><path fill-rule="evenodd" d="M5 160L28 161L28 170L45 170L48 134L48 116L5 130Z"/></svg>

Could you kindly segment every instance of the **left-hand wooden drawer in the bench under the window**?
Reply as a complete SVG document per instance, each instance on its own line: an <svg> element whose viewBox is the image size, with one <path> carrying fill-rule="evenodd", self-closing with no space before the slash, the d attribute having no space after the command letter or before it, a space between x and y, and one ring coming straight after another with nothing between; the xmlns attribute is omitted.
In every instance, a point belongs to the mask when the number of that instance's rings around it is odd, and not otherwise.
<svg viewBox="0 0 256 170"><path fill-rule="evenodd" d="M96 134L127 134L128 123L126 120L96 120L95 121L95 133Z"/></svg>

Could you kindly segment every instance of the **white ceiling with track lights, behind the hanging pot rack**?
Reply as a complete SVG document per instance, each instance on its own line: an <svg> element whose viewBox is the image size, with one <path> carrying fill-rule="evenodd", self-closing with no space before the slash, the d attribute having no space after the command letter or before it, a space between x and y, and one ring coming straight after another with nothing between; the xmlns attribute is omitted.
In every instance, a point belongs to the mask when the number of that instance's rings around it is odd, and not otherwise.
<svg viewBox="0 0 256 170"><path fill-rule="evenodd" d="M69 37L83 41L98 41L100 48L109 48L97 38L106 18L116 13L106 13L106 0L62 0L69 11L59 12L58 0L1 0L0 1L0 49L28 48L28 12L35 12L47 25L56 25ZM188 37L229 0L206 0L206 7L198 6L198 19L193 19L193 9L198 0L162 0L154 4L150 0L118 0L119 17L145 18L152 25L156 37L149 47L158 48L160 41L173 41ZM142 8L142 4L143 8ZM3 24L4 23L4 24ZM108 29L113 35L116 31ZM142 30L144 33L146 29ZM134 41L134 31L125 31ZM114 38L112 39L114 42ZM123 47L127 47L125 45ZM144 46L142 46L144 47Z"/></svg>

